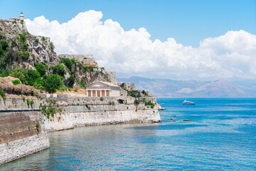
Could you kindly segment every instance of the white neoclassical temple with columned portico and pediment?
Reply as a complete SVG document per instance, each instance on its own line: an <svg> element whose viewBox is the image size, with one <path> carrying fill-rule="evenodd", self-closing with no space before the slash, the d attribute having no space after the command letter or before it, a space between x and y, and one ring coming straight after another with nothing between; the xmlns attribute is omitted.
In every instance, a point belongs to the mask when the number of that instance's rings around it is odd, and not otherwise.
<svg viewBox="0 0 256 171"><path fill-rule="evenodd" d="M86 86L87 97L116 97L120 96L120 87L104 81L96 81Z"/></svg>

